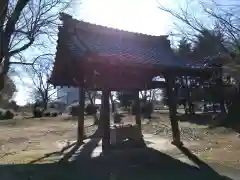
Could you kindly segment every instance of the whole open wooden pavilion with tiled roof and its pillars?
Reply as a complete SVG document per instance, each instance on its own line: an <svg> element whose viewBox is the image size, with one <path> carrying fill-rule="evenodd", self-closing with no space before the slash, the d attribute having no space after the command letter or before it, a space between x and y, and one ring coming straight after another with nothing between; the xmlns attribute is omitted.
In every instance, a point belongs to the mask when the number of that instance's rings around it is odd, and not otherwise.
<svg viewBox="0 0 240 180"><path fill-rule="evenodd" d="M78 141L83 140L84 90L102 91L100 123L103 127L103 151L110 145L109 93L151 89L152 79L164 76L167 85L173 144L181 145L176 119L175 77L198 75L208 71L193 68L177 57L167 36L150 36L117 30L73 19L62 13L56 59L50 82L54 86L81 87ZM139 114L136 124L141 128Z"/></svg>

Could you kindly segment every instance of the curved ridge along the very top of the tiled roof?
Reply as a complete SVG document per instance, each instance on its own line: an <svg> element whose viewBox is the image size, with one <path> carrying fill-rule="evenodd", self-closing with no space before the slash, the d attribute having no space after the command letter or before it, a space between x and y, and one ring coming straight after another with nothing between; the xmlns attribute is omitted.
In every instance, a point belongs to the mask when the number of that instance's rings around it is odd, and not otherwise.
<svg viewBox="0 0 240 180"><path fill-rule="evenodd" d="M120 35L120 36L129 36L129 37L142 37L142 38L147 38L147 39L167 39L168 35L149 35L149 34L144 34L140 32L131 32L123 29L118 29L118 28L113 28L109 26L104 26L100 24L95 24L95 23L90 23L86 22L83 20L77 20L73 18L71 15L66 14L66 13L60 13L60 20L63 21L63 23L74 23L78 25L79 29L85 30L85 31L91 31L93 33L98 33L98 34L105 34L105 35ZM63 24L64 26L64 24Z"/></svg>

